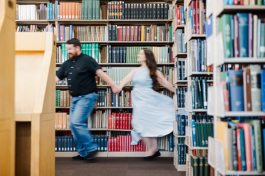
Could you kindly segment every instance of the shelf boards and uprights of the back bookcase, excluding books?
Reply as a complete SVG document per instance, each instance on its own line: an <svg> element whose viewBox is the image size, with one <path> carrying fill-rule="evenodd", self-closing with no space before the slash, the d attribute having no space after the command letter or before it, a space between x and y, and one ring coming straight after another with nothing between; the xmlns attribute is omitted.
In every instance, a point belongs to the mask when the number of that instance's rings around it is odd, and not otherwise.
<svg viewBox="0 0 265 176"><path fill-rule="evenodd" d="M20 5L29 5L29 4L35 4L35 5L39 5L39 4L46 4L47 3L54 3L55 1L25 1L25 0L19 0L17 1L17 4ZM59 1L60 2L78 2L80 3L81 0L63 0L63 1ZM108 2L107 0L100 0L100 3L102 3L103 5L106 5ZM128 1L126 0L125 3L169 3L171 4L172 1L163 1L163 0L152 0L152 1L139 1L139 0L132 0L132 1ZM101 12L101 15L103 14L103 12ZM138 25L138 26L149 26L151 24L157 24L157 25L161 25L164 26L165 28L165 37L168 38L168 40L165 41L109 41L108 39L106 41L80 41L81 44L86 44L86 43L98 43L99 45L103 45L103 46L107 46L108 47L123 47L123 46L130 46L130 47L134 47L134 46L144 46L144 47L154 47L154 46L158 46L158 47L172 47L174 44L174 41L170 41L169 40L169 35L168 35L168 31L170 28L170 24L173 22L172 19L158 19L158 20L110 20L108 19L108 16L106 19L103 18L102 15L102 19L100 20L51 20L46 18L46 20L16 20L15 21L16 24L18 26L27 26L27 25L38 25L38 26L55 26L55 23L58 22L59 24L62 24L64 26L69 26L69 25L73 25L73 26L109 26L109 25L117 25L117 26L125 26L125 25ZM172 30L173 31L173 30ZM108 35L108 32L107 32ZM56 45L57 47L62 46L63 44L65 44L66 41L57 41ZM109 70L112 68L135 68L140 66L139 63L109 63L109 59L108 59L108 55L106 56L106 63L99 63L99 65L102 67L102 70L105 71L107 74L109 74ZM62 65L62 63L56 63L56 70L59 70L59 67ZM164 70L165 77L168 79L168 70L169 68L174 67L174 63L170 63L169 59L167 61L167 63L158 63L157 64L160 70ZM67 90L68 86L67 85L56 85L56 89L58 90ZM98 90L105 90L106 93L110 93L111 91L111 87L109 85L97 85ZM124 90L128 90L128 89L132 89L133 85L127 85L125 86ZM161 90L163 90L166 95L169 95L170 92L168 90L165 90L164 87L160 87ZM107 100L108 101L108 100ZM61 112L62 109L69 109L70 107L55 107L56 111ZM109 106L105 106L105 107L95 107L95 109L105 109L107 115L111 114L113 111L132 111L132 107L109 107ZM131 130L115 130L115 129L107 129L107 128L88 128L91 131L104 131L104 134L107 135L108 137L110 137L112 131L131 131ZM56 129L55 131L64 131L64 130L68 130L69 129ZM167 142L168 143L168 142ZM167 144L167 146L169 146ZM169 148L167 147L168 151L162 151L161 152L161 156L170 156L173 157L173 152L169 152ZM97 154L99 156L143 156L143 152L99 152L100 154ZM76 152L55 152L55 156L59 157L59 156L64 156L64 157L70 157L70 156L75 156L77 155Z"/></svg>

